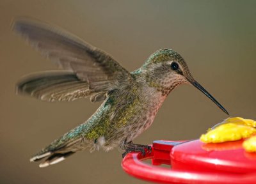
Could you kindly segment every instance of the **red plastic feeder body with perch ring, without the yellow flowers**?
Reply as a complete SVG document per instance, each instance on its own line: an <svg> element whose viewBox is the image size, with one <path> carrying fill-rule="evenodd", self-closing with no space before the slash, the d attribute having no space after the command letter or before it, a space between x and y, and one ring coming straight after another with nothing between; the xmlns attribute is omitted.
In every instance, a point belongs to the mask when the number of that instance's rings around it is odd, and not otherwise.
<svg viewBox="0 0 256 184"><path fill-rule="evenodd" d="M131 176L156 183L256 183L256 153L244 151L243 140L154 141L151 153L129 153L122 167Z"/></svg>

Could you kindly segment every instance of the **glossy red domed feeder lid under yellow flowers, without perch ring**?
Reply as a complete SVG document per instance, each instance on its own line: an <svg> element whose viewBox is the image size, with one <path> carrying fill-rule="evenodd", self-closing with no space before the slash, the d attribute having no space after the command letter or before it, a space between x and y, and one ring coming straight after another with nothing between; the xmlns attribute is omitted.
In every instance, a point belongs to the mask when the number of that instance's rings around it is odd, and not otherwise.
<svg viewBox="0 0 256 184"><path fill-rule="evenodd" d="M244 151L242 143L243 141L204 144L199 140L185 142L173 147L170 153L171 164L173 169L193 171L255 172L256 154Z"/></svg>

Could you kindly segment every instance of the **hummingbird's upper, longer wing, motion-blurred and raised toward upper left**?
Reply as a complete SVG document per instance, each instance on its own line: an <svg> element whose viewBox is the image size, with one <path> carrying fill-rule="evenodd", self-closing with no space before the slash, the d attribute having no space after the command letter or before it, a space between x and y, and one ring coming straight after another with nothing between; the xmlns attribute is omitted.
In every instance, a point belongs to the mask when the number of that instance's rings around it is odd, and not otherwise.
<svg viewBox="0 0 256 184"><path fill-rule="evenodd" d="M37 20L19 19L14 22L13 31L64 70L73 71L79 81L87 82L92 101L104 100L105 93L132 81L131 74L109 54L60 28Z"/></svg>

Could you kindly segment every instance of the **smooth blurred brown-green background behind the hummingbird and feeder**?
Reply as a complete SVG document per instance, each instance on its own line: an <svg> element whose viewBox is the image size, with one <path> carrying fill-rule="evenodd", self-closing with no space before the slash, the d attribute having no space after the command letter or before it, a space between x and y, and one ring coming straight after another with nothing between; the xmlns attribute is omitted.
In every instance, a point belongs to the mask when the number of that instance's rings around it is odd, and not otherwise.
<svg viewBox="0 0 256 184"><path fill-rule="evenodd" d="M127 70L172 48L231 116L256 119L256 1L0 1L0 183L146 183L124 173L121 153L88 151L40 169L29 157L88 119L100 104L15 95L22 75L55 66L10 29L14 17L56 24L109 52ZM134 142L195 139L227 116L192 86L168 96Z"/></svg>

